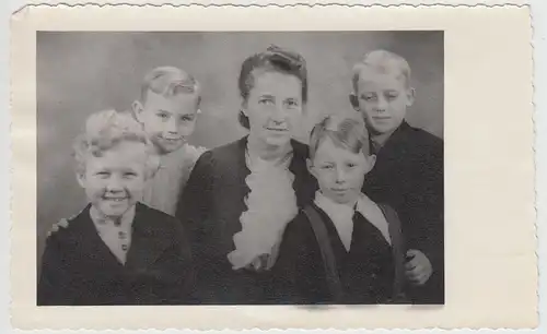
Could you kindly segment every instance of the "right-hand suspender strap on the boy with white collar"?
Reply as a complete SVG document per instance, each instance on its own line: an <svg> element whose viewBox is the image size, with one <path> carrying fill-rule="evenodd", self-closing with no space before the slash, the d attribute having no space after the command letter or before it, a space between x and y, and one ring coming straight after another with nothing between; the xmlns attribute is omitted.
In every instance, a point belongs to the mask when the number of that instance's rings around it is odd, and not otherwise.
<svg viewBox="0 0 547 334"><path fill-rule="evenodd" d="M393 258L395 262L395 282L393 286L393 297L392 301L403 301L404 297L404 286L406 282L405 277L405 241L403 238L403 232L400 229L400 220L397 213L388 205L379 204L379 207L382 210L384 214L389 236L392 237L392 250Z"/></svg>

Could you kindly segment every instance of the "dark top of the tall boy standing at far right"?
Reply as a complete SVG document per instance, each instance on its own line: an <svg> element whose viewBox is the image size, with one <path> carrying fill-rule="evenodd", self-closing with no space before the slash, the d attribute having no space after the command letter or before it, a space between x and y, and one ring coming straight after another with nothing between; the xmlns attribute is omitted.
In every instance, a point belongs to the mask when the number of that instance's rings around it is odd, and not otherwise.
<svg viewBox="0 0 547 334"><path fill-rule="evenodd" d="M363 192L391 205L400 217L407 248L422 251L433 275L410 288L416 303L444 303L443 141L403 122L380 150Z"/></svg>

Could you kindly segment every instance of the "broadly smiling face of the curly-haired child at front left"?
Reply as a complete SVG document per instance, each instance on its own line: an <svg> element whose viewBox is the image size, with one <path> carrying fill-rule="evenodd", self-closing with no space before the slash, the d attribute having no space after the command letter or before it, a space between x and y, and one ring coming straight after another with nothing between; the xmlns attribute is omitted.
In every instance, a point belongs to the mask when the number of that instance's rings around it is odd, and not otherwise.
<svg viewBox="0 0 547 334"><path fill-rule="evenodd" d="M148 154L143 143L125 141L88 156L78 181L98 213L118 218L141 200Z"/></svg>

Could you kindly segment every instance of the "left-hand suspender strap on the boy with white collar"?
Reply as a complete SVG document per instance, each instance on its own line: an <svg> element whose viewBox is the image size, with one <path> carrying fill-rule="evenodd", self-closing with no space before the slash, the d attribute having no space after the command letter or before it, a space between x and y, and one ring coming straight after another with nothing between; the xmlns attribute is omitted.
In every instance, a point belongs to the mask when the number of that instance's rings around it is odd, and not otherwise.
<svg viewBox="0 0 547 334"><path fill-rule="evenodd" d="M325 273L327 275L327 284L330 293L335 299L335 302L342 300L342 288L340 284L340 276L338 275L338 270L336 266L336 259L333 251L333 246L330 244L330 239L328 238L327 228L323 222L319 213L311 205L304 207L304 214L307 216L310 224L317 239L317 243L321 249L321 255L323 257L323 263L325 265Z"/></svg>

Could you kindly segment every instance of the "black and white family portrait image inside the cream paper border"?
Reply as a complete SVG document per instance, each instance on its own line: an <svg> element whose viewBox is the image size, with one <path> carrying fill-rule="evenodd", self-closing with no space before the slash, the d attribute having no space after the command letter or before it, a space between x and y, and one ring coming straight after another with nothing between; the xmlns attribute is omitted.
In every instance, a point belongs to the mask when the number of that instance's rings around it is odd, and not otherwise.
<svg viewBox="0 0 547 334"><path fill-rule="evenodd" d="M443 46L38 32L37 305L443 305Z"/></svg>

